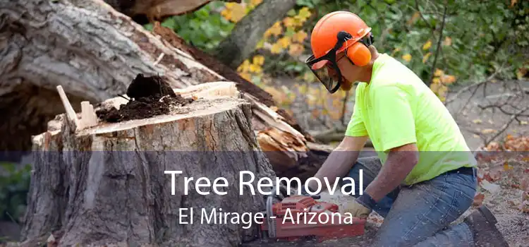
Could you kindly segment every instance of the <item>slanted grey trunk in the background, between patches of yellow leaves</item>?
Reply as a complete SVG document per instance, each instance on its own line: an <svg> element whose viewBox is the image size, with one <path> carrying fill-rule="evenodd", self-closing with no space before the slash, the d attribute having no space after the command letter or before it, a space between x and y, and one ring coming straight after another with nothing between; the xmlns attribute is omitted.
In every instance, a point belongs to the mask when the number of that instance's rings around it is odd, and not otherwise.
<svg viewBox="0 0 529 247"><path fill-rule="evenodd" d="M237 68L255 50L266 30L296 6L295 0L264 0L243 17L217 47L215 57Z"/></svg>

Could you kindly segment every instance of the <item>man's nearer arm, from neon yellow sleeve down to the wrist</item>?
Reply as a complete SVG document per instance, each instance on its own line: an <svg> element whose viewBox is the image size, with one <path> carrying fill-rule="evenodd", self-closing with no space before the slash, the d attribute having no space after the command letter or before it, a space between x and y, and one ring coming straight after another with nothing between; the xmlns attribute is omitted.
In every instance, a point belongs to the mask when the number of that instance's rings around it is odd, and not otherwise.
<svg viewBox="0 0 529 247"><path fill-rule="evenodd" d="M398 85L385 85L375 90L372 100L379 106L373 109L381 131L379 150L388 156L375 180L358 198L367 207L403 183L419 160L412 95Z"/></svg>

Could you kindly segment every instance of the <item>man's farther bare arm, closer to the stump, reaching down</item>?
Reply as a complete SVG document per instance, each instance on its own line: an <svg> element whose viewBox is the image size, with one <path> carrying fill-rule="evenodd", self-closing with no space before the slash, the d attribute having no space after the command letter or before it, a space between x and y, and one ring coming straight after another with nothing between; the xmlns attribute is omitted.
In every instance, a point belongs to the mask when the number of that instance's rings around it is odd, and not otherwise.
<svg viewBox="0 0 529 247"><path fill-rule="evenodd" d="M353 137L346 135L338 147L327 157L314 177L320 180L322 184L324 184L323 178L327 177L329 184L333 184L336 179L346 175L355 164L366 141L367 136ZM308 186L310 191L315 191L317 189L317 181L310 180Z"/></svg>

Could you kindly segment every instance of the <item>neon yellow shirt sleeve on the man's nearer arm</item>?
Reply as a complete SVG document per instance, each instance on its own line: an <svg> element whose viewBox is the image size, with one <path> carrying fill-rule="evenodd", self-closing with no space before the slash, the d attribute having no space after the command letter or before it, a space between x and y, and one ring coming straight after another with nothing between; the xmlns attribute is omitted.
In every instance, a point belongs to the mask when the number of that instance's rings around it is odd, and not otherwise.
<svg viewBox="0 0 529 247"><path fill-rule="evenodd" d="M373 92L379 143L384 152L394 147L416 143L415 116L410 96L396 85L384 85Z"/></svg>

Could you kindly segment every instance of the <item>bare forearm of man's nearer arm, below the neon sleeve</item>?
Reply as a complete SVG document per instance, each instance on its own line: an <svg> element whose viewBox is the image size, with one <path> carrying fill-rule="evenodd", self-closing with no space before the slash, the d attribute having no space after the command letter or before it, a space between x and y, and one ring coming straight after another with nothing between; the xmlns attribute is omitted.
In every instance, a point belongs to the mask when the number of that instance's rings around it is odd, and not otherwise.
<svg viewBox="0 0 529 247"><path fill-rule="evenodd" d="M419 152L415 143L395 147L389 151L386 162L365 192L378 202L385 195L399 186L419 159Z"/></svg>

